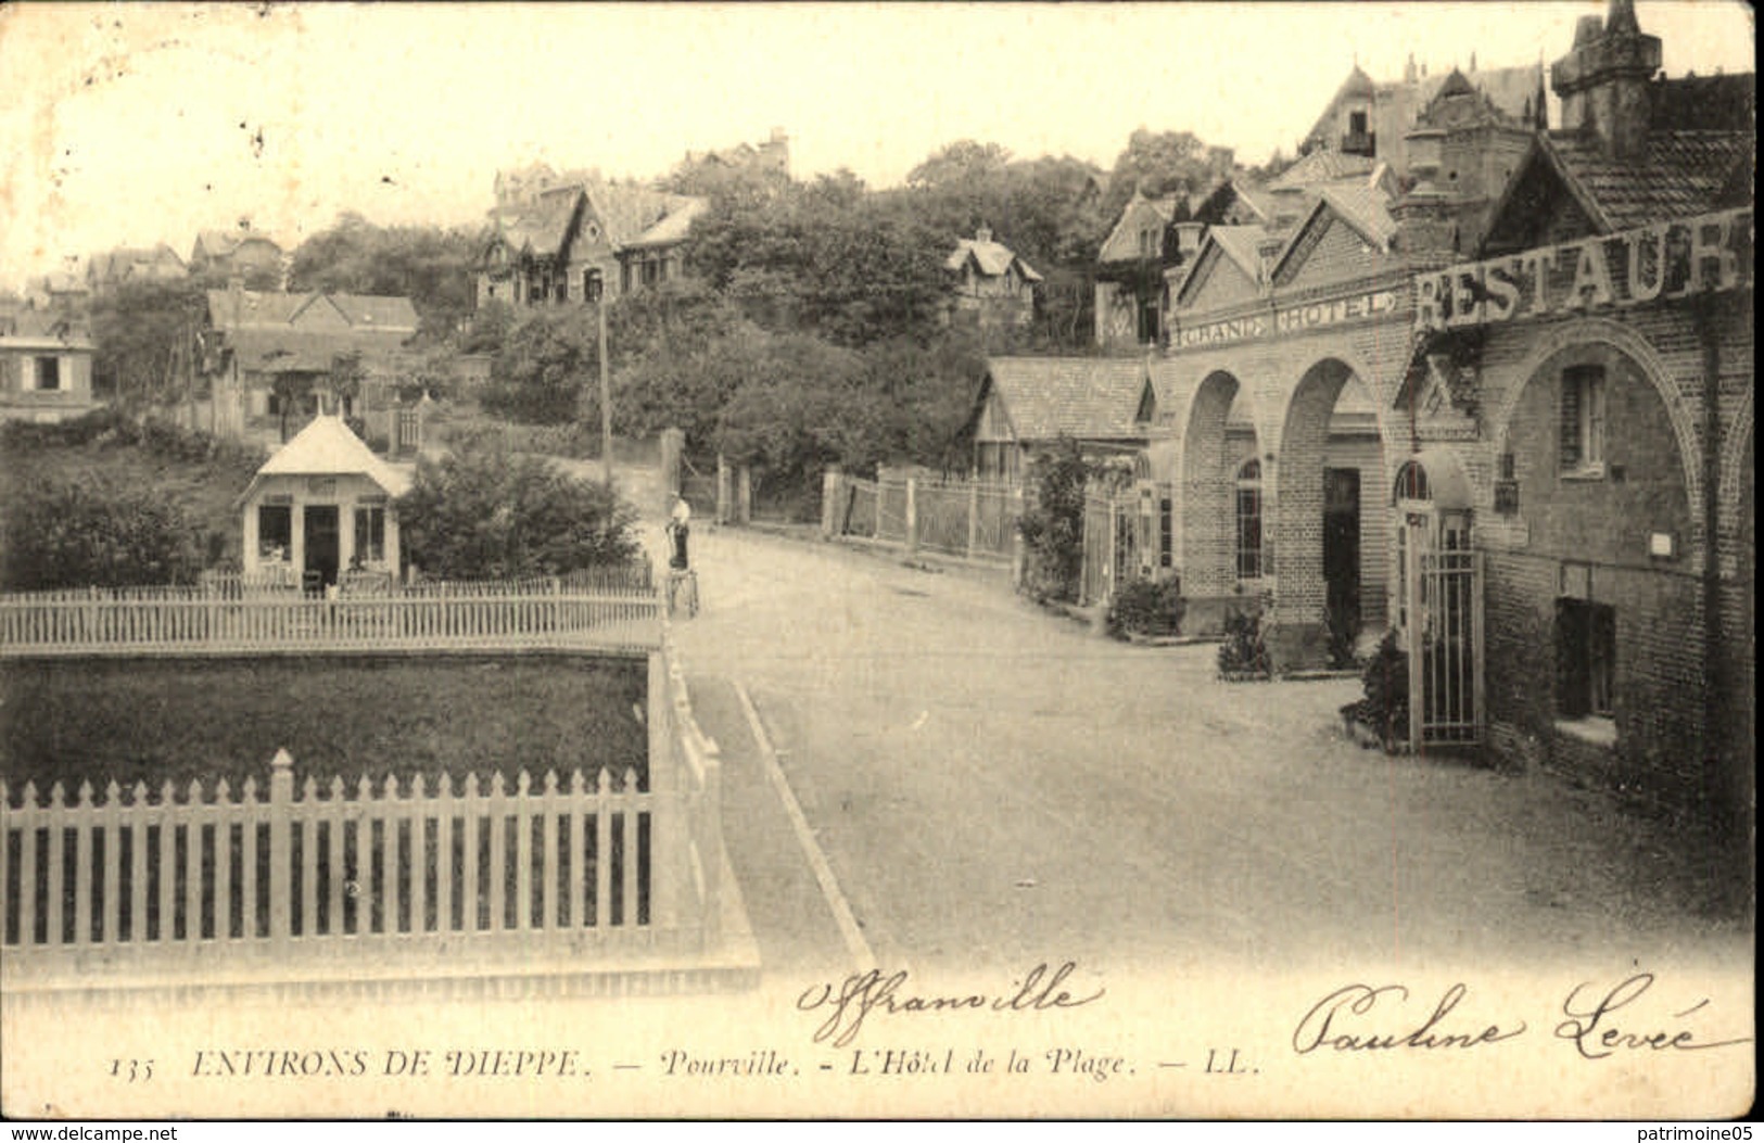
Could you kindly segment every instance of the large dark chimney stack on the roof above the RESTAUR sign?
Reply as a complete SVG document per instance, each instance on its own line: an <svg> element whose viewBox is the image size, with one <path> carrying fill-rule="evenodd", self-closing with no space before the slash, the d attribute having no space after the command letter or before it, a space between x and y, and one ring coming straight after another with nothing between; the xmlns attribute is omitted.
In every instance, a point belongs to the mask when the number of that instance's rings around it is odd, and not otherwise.
<svg viewBox="0 0 1764 1143"><path fill-rule="evenodd" d="M1549 69L1563 131L1598 141L1605 159L1633 159L1648 143L1648 81L1660 71L1660 37L1642 35L1633 0L1611 0L1607 18L1582 16L1573 49Z"/></svg>

